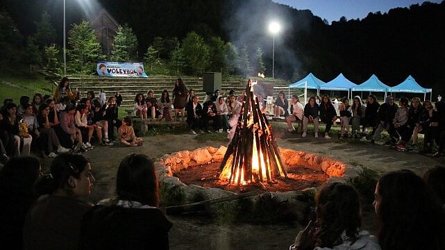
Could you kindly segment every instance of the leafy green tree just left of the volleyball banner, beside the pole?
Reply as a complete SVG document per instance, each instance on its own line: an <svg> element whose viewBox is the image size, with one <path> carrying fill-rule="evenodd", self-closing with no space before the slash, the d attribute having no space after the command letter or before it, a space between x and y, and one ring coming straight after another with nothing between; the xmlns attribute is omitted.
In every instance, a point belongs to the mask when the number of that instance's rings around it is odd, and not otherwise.
<svg viewBox="0 0 445 250"><path fill-rule="evenodd" d="M105 59L105 56L101 54L101 44L86 21L73 24L73 28L68 32L68 44L70 47L67 51L69 69L74 72L81 74L92 72L93 64L97 60Z"/></svg>

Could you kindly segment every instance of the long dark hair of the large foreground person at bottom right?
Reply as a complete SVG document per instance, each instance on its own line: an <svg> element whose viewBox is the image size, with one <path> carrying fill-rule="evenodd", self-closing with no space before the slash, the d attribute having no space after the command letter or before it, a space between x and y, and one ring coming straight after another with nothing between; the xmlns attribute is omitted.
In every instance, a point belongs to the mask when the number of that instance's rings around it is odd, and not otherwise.
<svg viewBox="0 0 445 250"><path fill-rule="evenodd" d="M444 208L419 176L402 169L385 174L377 185L383 250L445 249Z"/></svg>

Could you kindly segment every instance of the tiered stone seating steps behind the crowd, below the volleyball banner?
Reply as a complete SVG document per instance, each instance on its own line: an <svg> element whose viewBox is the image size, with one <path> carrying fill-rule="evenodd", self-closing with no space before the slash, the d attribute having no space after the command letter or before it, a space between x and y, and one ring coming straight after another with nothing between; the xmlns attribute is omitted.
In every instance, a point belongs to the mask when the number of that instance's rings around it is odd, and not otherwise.
<svg viewBox="0 0 445 250"><path fill-rule="evenodd" d="M287 89L280 89L287 87L289 83L280 80L265 80L258 78L251 78L253 81L261 83L274 84L274 98L276 98L280 90L285 91L288 94ZM168 90L171 98L171 94L174 88L174 81L176 77L149 77L149 78L124 78L124 77L85 77L85 78L69 78L71 88L74 90L78 88L82 97L86 96L87 91L94 91L94 94L99 94L103 89L106 93L106 97L114 96L116 91L119 91L122 95L122 107L130 108L133 106L134 99L137 93L142 93L144 96L149 90L155 92L155 97L159 98L163 90ZM183 81L187 86L187 90L193 89L195 94L199 96L200 101L205 98L205 92L203 91L203 79L196 77L183 77ZM228 78L221 83L221 94L226 95L230 90L235 90L235 94L241 94L246 88L246 79L240 78ZM292 92L291 92L292 94Z"/></svg>

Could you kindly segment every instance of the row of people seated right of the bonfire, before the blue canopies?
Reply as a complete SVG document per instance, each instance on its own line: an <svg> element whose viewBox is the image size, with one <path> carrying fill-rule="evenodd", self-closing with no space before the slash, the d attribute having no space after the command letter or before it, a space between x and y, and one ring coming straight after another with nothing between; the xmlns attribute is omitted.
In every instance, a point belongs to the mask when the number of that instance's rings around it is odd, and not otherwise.
<svg viewBox="0 0 445 250"><path fill-rule="evenodd" d="M274 107L275 115L283 115L284 94L278 94ZM387 145L396 147L398 151L417 150L422 153L433 153L442 156L445 146L445 103L437 101L434 106L430 101L418 97L408 100L400 97L398 104L394 97L387 96L385 103L378 103L376 97L370 94L366 101L358 96L353 97L352 104L344 98L338 103L336 110L333 101L324 94L317 104L318 97L310 97L303 106L296 95L289 101L290 115L285 118L289 132L294 131L292 122L301 124L302 137L307 136L308 124L314 124L314 137L319 136L319 123L326 124L324 138L330 139L330 128L337 124L341 126L339 139L357 138L375 144L380 140L383 131L387 131ZM424 135L423 147L419 148L419 134ZM436 151L433 152L433 144Z"/></svg>

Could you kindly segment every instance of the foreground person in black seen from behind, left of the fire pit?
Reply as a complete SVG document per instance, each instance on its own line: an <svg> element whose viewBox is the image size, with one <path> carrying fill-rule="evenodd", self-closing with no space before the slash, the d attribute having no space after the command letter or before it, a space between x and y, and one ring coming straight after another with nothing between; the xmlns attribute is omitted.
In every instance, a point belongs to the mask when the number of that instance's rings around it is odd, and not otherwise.
<svg viewBox="0 0 445 250"><path fill-rule="evenodd" d="M153 161L131 153L117 170L116 197L99 201L83 217L78 249L169 249L171 226L158 209Z"/></svg>

